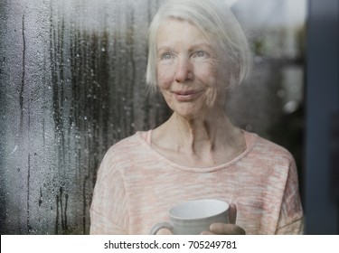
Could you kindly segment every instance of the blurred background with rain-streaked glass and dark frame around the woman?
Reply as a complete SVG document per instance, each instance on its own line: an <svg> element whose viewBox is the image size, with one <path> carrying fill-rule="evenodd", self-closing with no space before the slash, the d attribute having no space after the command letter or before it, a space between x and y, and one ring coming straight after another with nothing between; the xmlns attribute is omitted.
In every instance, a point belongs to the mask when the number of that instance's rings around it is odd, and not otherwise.
<svg viewBox="0 0 339 253"><path fill-rule="evenodd" d="M146 93L160 2L0 0L1 234L88 234L108 147L169 117ZM295 156L306 233L336 234L338 3L231 2L254 65L228 113Z"/></svg>

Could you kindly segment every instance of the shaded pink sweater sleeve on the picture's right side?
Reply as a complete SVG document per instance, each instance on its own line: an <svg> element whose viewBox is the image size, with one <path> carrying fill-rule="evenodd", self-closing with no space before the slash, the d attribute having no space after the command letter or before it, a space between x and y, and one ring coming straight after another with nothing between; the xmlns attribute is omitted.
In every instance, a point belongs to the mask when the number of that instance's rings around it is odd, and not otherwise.
<svg viewBox="0 0 339 253"><path fill-rule="evenodd" d="M304 217L298 189L297 166L292 161L288 171L276 234L302 234L303 232Z"/></svg>

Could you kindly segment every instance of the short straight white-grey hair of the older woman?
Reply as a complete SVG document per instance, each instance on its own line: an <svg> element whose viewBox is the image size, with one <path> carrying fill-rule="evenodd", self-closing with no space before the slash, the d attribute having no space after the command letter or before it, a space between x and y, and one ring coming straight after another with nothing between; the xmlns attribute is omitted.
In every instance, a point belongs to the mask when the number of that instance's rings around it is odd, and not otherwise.
<svg viewBox="0 0 339 253"><path fill-rule="evenodd" d="M160 24L168 18L178 18L197 26L212 43L221 60L231 68L228 87L234 87L250 72L251 54L246 36L230 8L221 0L166 0L155 14L148 30L148 62L146 83L157 87L156 35Z"/></svg>

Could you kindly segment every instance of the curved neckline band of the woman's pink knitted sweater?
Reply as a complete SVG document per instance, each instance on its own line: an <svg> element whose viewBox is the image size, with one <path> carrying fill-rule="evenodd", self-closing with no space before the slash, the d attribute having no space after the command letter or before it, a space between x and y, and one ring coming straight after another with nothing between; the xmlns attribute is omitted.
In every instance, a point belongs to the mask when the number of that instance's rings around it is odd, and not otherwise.
<svg viewBox="0 0 339 253"><path fill-rule="evenodd" d="M244 133L245 136L245 142L246 142L246 149L238 156L234 157L231 161L224 163L224 164L219 164L216 166L212 167L204 167L204 168L198 168L198 167L189 167L189 166L184 166L181 164L176 164L170 159L166 158L164 155L160 154L157 152L151 145L151 136L152 136L152 129L148 131L138 131L136 133L136 136L141 143L141 145L144 145L145 148L152 154L155 155L159 160L161 160L165 164L169 164L172 167L182 170L182 171L188 171L188 172L196 172L196 173L210 173L213 171L218 171L221 169L226 169L231 167L233 164L237 164L243 157L248 155L254 145L257 142L258 135L255 133L250 133L245 130L241 130Z"/></svg>

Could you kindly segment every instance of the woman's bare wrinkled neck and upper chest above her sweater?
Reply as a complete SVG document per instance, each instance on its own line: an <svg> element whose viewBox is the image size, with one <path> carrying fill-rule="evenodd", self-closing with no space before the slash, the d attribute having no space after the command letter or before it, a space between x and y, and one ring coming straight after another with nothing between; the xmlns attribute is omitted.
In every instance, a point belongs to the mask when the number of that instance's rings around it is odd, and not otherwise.
<svg viewBox="0 0 339 253"><path fill-rule="evenodd" d="M153 145L171 160L179 160L174 162L202 167L225 163L246 148L242 132L223 111L190 120L174 113L155 129Z"/></svg>

